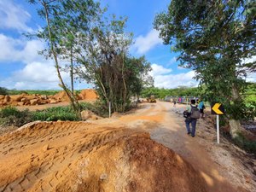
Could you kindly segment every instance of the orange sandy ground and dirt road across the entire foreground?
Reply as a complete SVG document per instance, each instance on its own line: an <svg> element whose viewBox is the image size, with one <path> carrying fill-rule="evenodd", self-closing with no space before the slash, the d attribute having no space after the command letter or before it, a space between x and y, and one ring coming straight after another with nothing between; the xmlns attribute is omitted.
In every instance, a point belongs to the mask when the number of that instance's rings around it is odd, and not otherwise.
<svg viewBox="0 0 256 192"><path fill-rule="evenodd" d="M4 134L0 191L255 191L255 160L224 138L217 145L203 119L189 137L183 108L143 103L111 119Z"/></svg>

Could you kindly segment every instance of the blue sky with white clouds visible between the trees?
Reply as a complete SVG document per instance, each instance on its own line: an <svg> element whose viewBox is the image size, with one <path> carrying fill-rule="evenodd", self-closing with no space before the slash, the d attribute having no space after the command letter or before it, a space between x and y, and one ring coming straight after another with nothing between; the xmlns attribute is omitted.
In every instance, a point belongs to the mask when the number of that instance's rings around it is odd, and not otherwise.
<svg viewBox="0 0 256 192"><path fill-rule="evenodd" d="M154 86L176 88L180 85L196 86L195 72L178 67L177 53L164 45L159 33L153 29L154 16L167 9L170 0L102 0L108 4L108 13L127 16L126 32L132 32L134 42L131 55L143 56L151 63ZM26 38L24 33L35 32L45 26L38 17L36 7L26 0L0 0L0 87L17 90L60 89L54 62L38 55L44 42ZM70 84L69 74L63 79ZM256 75L248 77L256 81ZM91 88L86 82L76 82L75 89Z"/></svg>

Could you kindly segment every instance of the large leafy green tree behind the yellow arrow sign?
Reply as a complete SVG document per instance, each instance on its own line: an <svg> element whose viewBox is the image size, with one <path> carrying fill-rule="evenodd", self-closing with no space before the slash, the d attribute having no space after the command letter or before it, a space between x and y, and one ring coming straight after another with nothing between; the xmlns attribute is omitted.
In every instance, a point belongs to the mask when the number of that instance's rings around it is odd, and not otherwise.
<svg viewBox="0 0 256 192"><path fill-rule="evenodd" d="M211 102L224 103L232 137L244 117L244 77L255 71L255 61L243 62L255 55L255 11L253 1L172 0L154 20L165 44L180 52L181 65L206 85Z"/></svg>

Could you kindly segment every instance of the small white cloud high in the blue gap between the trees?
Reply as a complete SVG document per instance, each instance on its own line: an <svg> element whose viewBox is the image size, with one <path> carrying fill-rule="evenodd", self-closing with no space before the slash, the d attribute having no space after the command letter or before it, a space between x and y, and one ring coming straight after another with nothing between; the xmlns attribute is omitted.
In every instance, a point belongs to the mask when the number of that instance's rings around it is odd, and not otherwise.
<svg viewBox="0 0 256 192"><path fill-rule="evenodd" d="M145 54L158 44L162 44L162 40L159 38L159 32L153 29L146 36L137 37L131 49L135 49L138 54Z"/></svg>

